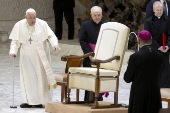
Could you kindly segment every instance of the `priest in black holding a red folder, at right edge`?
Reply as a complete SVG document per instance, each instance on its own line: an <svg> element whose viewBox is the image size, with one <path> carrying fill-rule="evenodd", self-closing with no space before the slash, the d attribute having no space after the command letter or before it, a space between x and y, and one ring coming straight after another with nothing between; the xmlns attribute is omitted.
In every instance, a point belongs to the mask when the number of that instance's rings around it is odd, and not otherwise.
<svg viewBox="0 0 170 113"><path fill-rule="evenodd" d="M144 29L152 34L152 47L164 55L166 66L161 78L161 88L170 88L170 66L168 50L170 47L170 21L168 17L163 16L163 4L156 1L153 4L154 15L147 18L144 23ZM165 49L162 44L162 34L167 35Z"/></svg>

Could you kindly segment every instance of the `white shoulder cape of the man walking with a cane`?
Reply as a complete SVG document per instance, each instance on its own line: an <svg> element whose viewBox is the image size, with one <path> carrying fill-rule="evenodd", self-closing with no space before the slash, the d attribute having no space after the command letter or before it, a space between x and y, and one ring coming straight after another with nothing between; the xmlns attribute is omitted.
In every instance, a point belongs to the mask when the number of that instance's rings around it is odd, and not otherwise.
<svg viewBox="0 0 170 113"><path fill-rule="evenodd" d="M35 32L39 42L48 39L48 36L54 34L54 32L50 29L48 24L45 21L38 18L36 18ZM9 36L9 39L18 40L20 43L26 43L26 39L29 38L30 37L27 28L27 20L23 19L18 21L14 25L11 34Z"/></svg>

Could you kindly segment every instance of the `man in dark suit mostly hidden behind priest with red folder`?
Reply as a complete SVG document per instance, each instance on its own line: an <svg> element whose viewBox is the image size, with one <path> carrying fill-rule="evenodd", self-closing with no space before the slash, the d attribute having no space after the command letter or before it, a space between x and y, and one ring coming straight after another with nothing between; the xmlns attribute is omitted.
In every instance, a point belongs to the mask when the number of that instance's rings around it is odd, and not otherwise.
<svg viewBox="0 0 170 113"><path fill-rule="evenodd" d="M165 9L164 9L164 15L167 16L168 18L170 18L170 2L167 0L151 0L147 6L146 6L146 18L151 17L152 15L154 15L153 12L153 3L155 1L160 1L161 3L165 2Z"/></svg>

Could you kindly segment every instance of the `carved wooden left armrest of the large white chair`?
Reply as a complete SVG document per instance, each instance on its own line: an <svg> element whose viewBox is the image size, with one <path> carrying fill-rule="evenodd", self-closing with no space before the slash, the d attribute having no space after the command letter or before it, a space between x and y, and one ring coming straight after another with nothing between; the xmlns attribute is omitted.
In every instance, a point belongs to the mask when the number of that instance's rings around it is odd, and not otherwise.
<svg viewBox="0 0 170 113"><path fill-rule="evenodd" d="M62 56L61 61L67 61L68 59L82 59L82 58L86 58L86 57L89 57L89 56L94 56L94 53L89 52L89 53L86 53L86 54L81 55L81 56L77 56L77 55Z"/></svg>

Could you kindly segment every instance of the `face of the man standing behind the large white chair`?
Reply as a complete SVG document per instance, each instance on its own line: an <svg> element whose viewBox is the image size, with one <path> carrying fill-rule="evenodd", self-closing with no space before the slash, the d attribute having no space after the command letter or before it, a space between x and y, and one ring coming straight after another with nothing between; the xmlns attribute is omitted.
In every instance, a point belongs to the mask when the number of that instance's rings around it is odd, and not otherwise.
<svg viewBox="0 0 170 113"><path fill-rule="evenodd" d="M92 17L92 20L96 24L98 24L102 19L102 12L99 10L94 10L93 12L91 12L91 17Z"/></svg>

